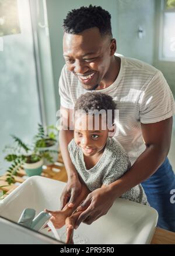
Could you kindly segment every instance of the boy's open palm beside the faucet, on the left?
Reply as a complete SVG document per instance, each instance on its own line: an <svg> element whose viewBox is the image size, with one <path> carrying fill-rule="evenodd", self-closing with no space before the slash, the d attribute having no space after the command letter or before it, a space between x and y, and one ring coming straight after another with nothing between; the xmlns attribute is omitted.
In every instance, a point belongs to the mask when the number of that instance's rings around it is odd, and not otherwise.
<svg viewBox="0 0 175 256"><path fill-rule="evenodd" d="M67 218L67 216L64 211L50 211L47 209L45 209L44 211L52 215L50 220L52 221L55 228L61 228L65 225L65 219ZM51 231L51 229L49 228L48 231Z"/></svg>

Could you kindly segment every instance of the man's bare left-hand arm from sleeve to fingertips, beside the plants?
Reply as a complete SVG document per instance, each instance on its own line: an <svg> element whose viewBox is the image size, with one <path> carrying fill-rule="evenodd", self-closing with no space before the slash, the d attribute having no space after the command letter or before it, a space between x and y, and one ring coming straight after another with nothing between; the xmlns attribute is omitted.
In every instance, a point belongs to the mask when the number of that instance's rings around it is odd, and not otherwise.
<svg viewBox="0 0 175 256"><path fill-rule="evenodd" d="M68 174L68 183L61 194L62 209L68 202L69 207L74 206L76 197L81 193L82 185L68 151L68 144L72 138L74 138L74 123L71 122L71 118L69 118L69 116L73 114L73 111L64 107L61 107L60 110L62 114L62 128L59 134L60 150Z"/></svg>

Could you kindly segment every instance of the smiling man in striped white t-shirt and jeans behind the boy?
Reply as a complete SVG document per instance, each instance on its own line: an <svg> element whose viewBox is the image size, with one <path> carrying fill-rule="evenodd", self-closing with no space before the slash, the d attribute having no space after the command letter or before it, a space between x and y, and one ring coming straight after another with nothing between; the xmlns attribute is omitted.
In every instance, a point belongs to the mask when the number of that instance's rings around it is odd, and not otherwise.
<svg viewBox="0 0 175 256"><path fill-rule="evenodd" d="M88 195L76 226L103 216L121 194L142 182L150 206L159 213L158 226L175 231L175 205L170 202L175 176L167 159L175 104L162 73L139 60L114 55L110 13L100 6L81 7L64 20L64 58L59 91L61 110L72 115L79 95L87 90L111 95L119 110L116 139L127 151L131 169L120 179ZM68 173L62 207L74 206L82 189L68 144L72 124L60 131L60 148ZM88 148L89 145L86 145ZM146 181L145 181L146 180ZM143 182L145 181L145 182Z"/></svg>

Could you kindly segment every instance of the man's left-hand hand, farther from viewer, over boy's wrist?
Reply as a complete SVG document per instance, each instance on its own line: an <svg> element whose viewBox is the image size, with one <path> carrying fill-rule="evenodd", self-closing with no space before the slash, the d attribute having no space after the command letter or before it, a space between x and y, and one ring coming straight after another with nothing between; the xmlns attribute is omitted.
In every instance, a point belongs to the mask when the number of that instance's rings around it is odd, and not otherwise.
<svg viewBox="0 0 175 256"><path fill-rule="evenodd" d="M68 183L65 186L61 194L61 210L68 203L69 207L74 207L75 201L79 194L82 192L82 184L78 178L68 179Z"/></svg>

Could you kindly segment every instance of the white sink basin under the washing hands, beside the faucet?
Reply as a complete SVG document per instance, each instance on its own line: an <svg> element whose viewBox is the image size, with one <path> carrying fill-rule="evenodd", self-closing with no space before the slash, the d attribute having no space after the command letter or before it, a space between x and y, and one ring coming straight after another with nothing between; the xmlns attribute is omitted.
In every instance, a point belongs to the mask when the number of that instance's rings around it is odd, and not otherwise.
<svg viewBox="0 0 175 256"><path fill-rule="evenodd" d="M16 222L24 208L33 208L36 214L44 208L58 210L64 187L63 182L33 176L0 201L0 216ZM117 199L105 216L89 226L82 223L75 236L87 238L89 244L149 244L157 219L157 211L152 207ZM64 230L65 227L58 233ZM44 233L53 237L46 230Z"/></svg>

